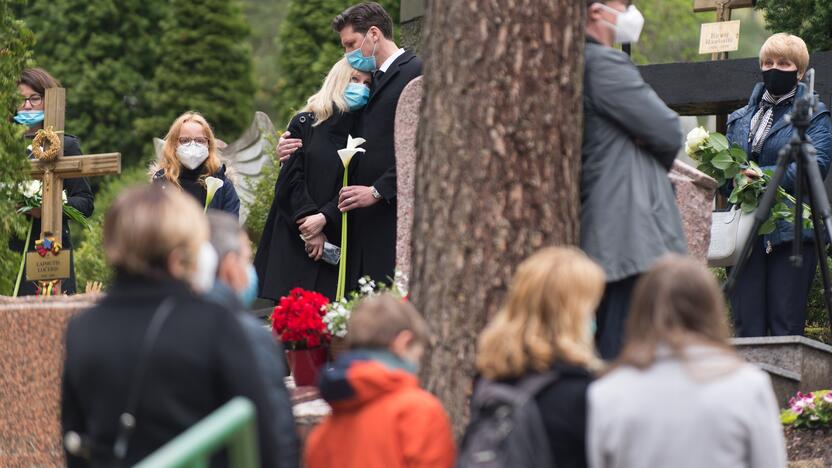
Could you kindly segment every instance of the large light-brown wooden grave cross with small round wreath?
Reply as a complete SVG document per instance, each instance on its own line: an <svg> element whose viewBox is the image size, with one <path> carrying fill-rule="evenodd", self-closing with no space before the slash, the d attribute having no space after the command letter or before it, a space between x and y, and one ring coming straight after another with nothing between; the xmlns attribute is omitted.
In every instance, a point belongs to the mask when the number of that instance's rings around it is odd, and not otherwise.
<svg viewBox="0 0 832 468"><path fill-rule="evenodd" d="M30 176L43 180L43 206L41 207L40 238L45 233L51 233L57 242L63 242L63 200L64 179L101 176L121 173L121 154L105 153L82 156L64 156L63 130L64 110L66 108L66 90L64 88L50 88L44 96L43 128L51 128L58 134L60 148L58 157L50 162L31 160ZM31 247L26 246L26 250ZM68 257L67 260L68 261ZM27 258L27 263L29 259ZM28 276L28 275L27 275ZM50 280L59 278L37 278ZM60 293L60 289L56 292Z"/></svg>

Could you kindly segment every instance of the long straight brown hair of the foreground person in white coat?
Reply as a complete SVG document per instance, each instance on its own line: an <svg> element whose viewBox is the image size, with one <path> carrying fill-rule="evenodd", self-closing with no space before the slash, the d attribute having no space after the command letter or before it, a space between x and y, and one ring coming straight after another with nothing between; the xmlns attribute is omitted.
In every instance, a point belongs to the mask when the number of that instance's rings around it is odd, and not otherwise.
<svg viewBox="0 0 832 468"><path fill-rule="evenodd" d="M722 292L696 260L667 255L642 277L633 292L626 341L615 367L645 369L660 345L684 358L688 345L704 344L735 355Z"/></svg>

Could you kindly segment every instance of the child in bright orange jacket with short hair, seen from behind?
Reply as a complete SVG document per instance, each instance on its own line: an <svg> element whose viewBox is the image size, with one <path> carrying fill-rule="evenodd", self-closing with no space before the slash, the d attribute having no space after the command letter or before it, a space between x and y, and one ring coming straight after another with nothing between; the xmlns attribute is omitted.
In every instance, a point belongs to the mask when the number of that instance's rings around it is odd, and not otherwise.
<svg viewBox="0 0 832 468"><path fill-rule="evenodd" d="M456 456L442 404L419 388L427 325L389 295L359 304L348 324L350 351L321 376L332 406L309 436L308 468L452 468Z"/></svg>

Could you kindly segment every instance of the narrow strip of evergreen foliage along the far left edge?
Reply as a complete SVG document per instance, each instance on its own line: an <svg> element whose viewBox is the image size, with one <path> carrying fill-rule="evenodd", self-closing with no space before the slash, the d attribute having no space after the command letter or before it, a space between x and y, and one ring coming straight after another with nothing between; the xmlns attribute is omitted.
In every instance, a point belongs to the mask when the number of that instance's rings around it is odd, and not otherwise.
<svg viewBox="0 0 832 468"><path fill-rule="evenodd" d="M20 105L17 80L30 55L32 32L15 18L20 1L0 0L0 109L9 112ZM17 4L17 5L15 5ZM0 118L0 294L10 295L20 266L20 252L9 250L12 235L25 236L24 217L15 213L14 195L28 178L24 127Z"/></svg>

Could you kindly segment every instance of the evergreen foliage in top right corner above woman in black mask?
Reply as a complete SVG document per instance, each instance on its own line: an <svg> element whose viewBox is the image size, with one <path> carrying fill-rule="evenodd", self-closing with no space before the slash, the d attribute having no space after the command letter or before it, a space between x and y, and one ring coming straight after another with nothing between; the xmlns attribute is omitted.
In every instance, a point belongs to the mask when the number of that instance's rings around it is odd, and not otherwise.
<svg viewBox="0 0 832 468"><path fill-rule="evenodd" d="M829 0L759 0L768 29L801 37L809 51L832 50L832 2Z"/></svg>

